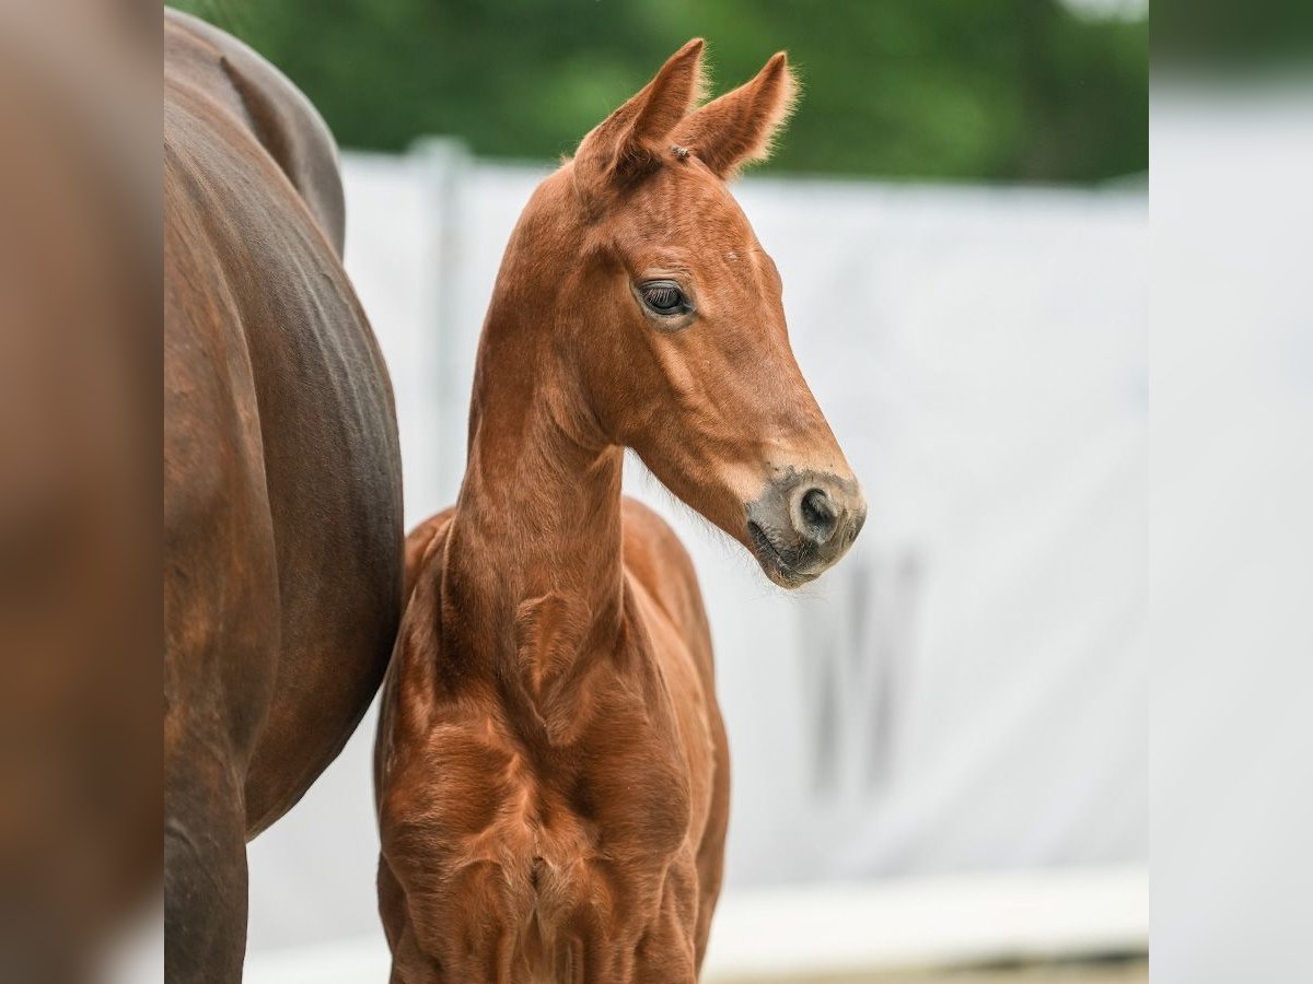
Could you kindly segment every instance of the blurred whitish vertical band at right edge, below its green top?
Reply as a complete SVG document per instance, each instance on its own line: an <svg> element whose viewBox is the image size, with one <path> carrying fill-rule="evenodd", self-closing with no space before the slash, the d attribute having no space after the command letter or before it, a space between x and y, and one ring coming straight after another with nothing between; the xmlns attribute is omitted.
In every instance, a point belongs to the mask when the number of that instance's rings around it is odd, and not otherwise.
<svg viewBox="0 0 1313 984"><path fill-rule="evenodd" d="M1153 979L1313 980L1313 77L1153 140Z"/></svg>

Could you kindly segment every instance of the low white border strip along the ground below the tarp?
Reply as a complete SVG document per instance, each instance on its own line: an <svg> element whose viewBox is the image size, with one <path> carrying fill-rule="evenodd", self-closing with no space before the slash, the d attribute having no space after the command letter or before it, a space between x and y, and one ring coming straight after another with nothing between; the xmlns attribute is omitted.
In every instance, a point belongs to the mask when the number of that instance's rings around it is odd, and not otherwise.
<svg viewBox="0 0 1313 984"><path fill-rule="evenodd" d="M705 984L1148 953L1144 866L789 886L721 901ZM255 953L247 984L386 980L382 934Z"/></svg>

